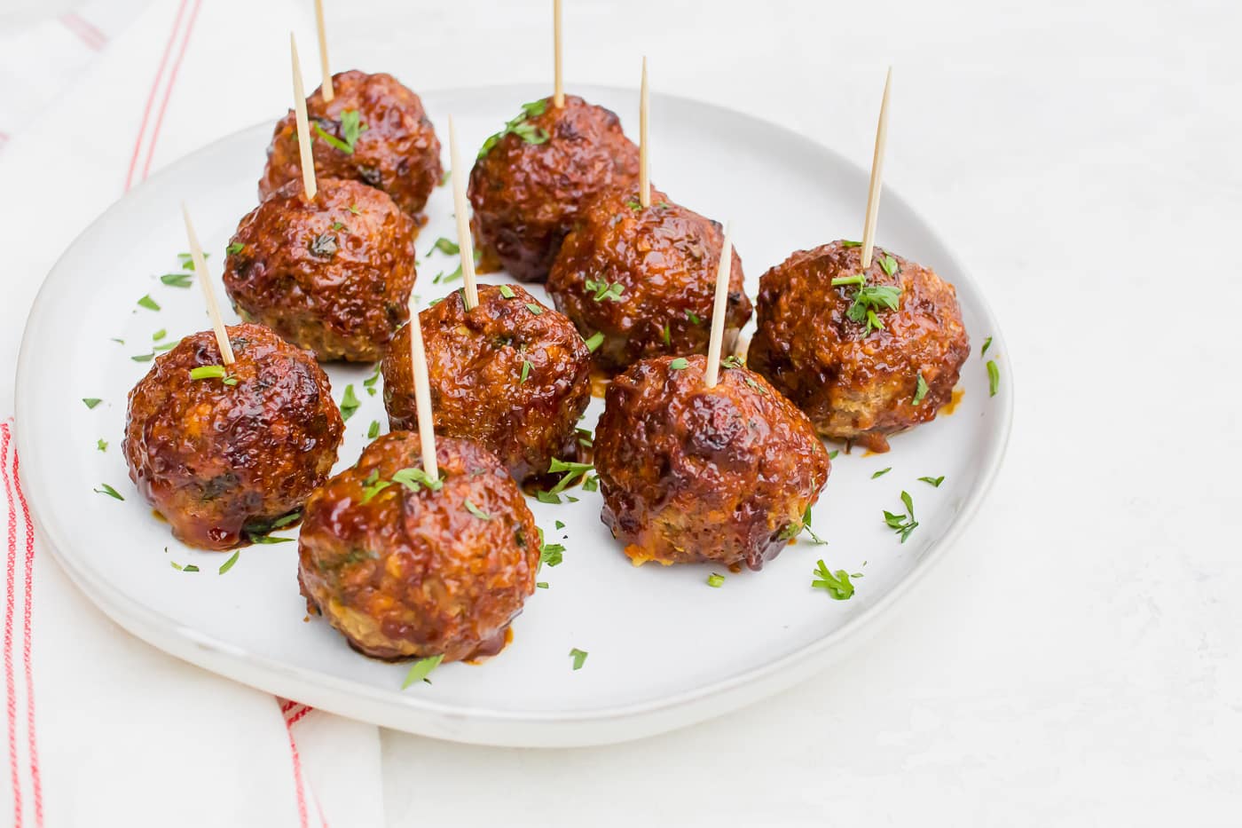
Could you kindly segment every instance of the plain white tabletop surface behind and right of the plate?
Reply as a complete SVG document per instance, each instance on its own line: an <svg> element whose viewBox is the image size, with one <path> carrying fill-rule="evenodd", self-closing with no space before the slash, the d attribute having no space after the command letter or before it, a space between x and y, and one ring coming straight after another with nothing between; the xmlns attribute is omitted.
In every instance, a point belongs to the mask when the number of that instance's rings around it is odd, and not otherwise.
<svg viewBox="0 0 1242 828"><path fill-rule="evenodd" d="M892 63L886 183L987 292L1013 438L956 548L851 660L615 747L385 734L390 823L1238 824L1236 4L565 1L570 91L635 83L646 53L655 88L861 164ZM539 81L548 6L329 0L333 63ZM35 287L0 264L0 302Z"/></svg>

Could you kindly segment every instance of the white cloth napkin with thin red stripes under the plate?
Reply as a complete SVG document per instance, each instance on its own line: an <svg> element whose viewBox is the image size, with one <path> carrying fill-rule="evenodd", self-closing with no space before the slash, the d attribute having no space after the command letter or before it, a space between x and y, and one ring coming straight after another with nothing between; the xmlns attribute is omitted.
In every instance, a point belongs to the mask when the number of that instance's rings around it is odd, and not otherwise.
<svg viewBox="0 0 1242 828"><path fill-rule="evenodd" d="M60 251L160 167L289 98L288 31L314 44L299 4L168 0L120 31L75 12L96 52L24 111L0 148L0 551L5 558L0 824L384 823L378 729L273 699L164 655L113 625L43 547L21 484L12 372L26 313ZM30 29L47 37L45 25ZM40 34L42 32L42 34ZM17 35L6 32L5 46ZM84 42L84 41L83 41ZM22 83L11 56L0 83ZM53 55L56 52L53 51ZM35 62L16 70L37 75ZM27 87L22 87L27 88ZM29 90L27 90L29 91ZM15 109L9 109L12 112ZM256 159L256 169L261 163ZM143 244L140 228L134 244ZM72 336L67 323L65 336Z"/></svg>

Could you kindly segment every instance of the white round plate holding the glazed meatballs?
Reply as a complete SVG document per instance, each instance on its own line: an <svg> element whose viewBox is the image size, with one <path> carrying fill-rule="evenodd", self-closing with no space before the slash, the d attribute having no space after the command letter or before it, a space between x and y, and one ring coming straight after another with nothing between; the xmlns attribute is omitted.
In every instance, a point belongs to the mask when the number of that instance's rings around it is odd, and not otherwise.
<svg viewBox="0 0 1242 828"><path fill-rule="evenodd" d="M575 91L617 112L636 133L633 91ZM441 131L453 113L463 154L472 158L472 148L518 104L544 93L491 87L424 99ZM130 485L120 455L125 395L150 368L130 357L150 353L160 329L168 332L163 342L173 342L207 327L197 286L159 278L180 270L178 252L186 250L179 204L190 205L224 300L224 249L255 205L271 132L272 124L262 124L173 164L91 225L47 276L19 363L22 466L52 552L104 613L179 658L315 707L438 738L510 746L637 738L756 701L840 656L944 552L1001 461L1012 374L1002 362L1000 392L990 397L980 358L991 337L987 357L1004 359L1000 328L949 246L886 191L879 241L956 285L971 356L951 415L895 436L889 454L856 450L833 461L814 511L814 528L827 545L804 535L763 572L722 571L724 586L712 588L705 583L712 567L632 567L600 522L597 492L571 490L579 502L559 506L532 499L548 541L566 551L560 566L543 568L540 581L549 588L527 602L513 643L482 665L443 665L432 684L401 690L406 666L366 659L324 620L307 619L296 543L245 548L220 574L229 554L174 541ZM791 251L858 231L864 170L787 129L657 94L652 143L661 189L704 215L733 220L751 297L760 274ZM457 287L432 283L437 272L456 269L456 257L428 252L437 237L456 236L451 188L436 190L427 215L416 241L415 292L422 303ZM505 278L493 274L483 281ZM534 292L544 300L542 288ZM137 303L145 295L159 311ZM356 460L373 420L388 429L383 395L363 385L370 369L330 366L328 373L338 402L350 383L361 400L347 423L339 469ZM103 402L88 409L83 398ZM594 424L600 409L592 400L584 425ZM106 451L97 448L101 439ZM872 477L887 466L892 471ZM938 489L918 480L941 475ZM124 501L97 494L101 484L114 486ZM902 511L902 490L913 496L919 521L904 545L882 515ZM832 569L863 573L852 599L833 600L811 588L818 558ZM178 571L174 562L199 572ZM574 648L589 653L580 670L573 669Z"/></svg>

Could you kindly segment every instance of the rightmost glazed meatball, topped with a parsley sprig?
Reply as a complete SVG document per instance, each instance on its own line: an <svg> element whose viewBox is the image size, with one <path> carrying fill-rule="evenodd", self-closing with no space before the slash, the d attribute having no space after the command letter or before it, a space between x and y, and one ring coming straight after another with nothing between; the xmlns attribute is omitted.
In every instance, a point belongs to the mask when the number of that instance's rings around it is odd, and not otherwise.
<svg viewBox="0 0 1242 828"><path fill-rule="evenodd" d="M867 286L900 292L897 308L881 306L873 320L851 311L857 285L832 287L859 274L861 249L842 241L764 274L748 364L820 434L888 451L887 435L935 419L949 402L970 341L956 291L932 270L876 247Z"/></svg>

